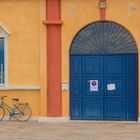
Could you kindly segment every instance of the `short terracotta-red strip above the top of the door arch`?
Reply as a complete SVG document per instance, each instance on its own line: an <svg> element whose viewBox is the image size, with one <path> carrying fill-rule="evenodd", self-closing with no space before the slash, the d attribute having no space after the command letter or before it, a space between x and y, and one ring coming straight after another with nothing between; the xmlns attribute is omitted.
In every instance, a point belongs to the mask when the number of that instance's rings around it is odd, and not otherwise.
<svg viewBox="0 0 140 140"><path fill-rule="evenodd" d="M102 21L106 20L106 6L107 6L107 0L100 0L99 2L100 20Z"/></svg>

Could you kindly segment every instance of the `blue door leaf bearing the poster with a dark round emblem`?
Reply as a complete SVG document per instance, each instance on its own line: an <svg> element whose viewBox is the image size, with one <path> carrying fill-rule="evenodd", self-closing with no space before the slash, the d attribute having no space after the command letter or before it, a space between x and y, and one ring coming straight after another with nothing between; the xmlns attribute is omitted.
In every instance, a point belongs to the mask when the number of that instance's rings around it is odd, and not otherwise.
<svg viewBox="0 0 140 140"><path fill-rule="evenodd" d="M103 119L103 57L83 58L83 119Z"/></svg>

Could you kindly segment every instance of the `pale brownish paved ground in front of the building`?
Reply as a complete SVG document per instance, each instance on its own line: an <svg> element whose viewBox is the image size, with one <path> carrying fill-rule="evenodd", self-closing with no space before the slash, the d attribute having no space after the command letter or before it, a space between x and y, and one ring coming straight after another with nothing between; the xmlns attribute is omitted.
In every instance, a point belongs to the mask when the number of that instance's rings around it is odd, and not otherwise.
<svg viewBox="0 0 140 140"><path fill-rule="evenodd" d="M0 122L0 140L140 140L136 122Z"/></svg>

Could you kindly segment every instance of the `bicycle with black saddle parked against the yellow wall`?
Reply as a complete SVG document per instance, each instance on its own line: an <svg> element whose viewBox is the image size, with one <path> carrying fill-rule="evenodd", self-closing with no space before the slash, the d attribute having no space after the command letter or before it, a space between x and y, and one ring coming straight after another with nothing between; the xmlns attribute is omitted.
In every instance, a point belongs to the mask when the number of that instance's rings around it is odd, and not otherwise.
<svg viewBox="0 0 140 140"><path fill-rule="evenodd" d="M11 120L12 117L15 117L18 121L27 121L32 116L32 110L29 106L29 103L19 103L19 99L12 99L14 101L13 107L8 106L3 100L7 96L2 96L1 103L0 103L0 121L5 116L5 110L9 112L9 120Z"/></svg>

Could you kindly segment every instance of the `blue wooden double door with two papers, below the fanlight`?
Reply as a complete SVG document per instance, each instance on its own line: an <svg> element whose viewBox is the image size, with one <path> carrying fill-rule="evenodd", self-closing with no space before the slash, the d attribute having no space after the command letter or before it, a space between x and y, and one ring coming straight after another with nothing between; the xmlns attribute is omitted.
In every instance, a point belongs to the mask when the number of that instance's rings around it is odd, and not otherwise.
<svg viewBox="0 0 140 140"><path fill-rule="evenodd" d="M137 55L72 55L70 75L71 119L137 119Z"/></svg>

